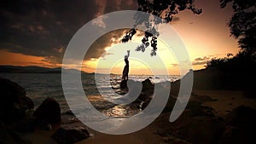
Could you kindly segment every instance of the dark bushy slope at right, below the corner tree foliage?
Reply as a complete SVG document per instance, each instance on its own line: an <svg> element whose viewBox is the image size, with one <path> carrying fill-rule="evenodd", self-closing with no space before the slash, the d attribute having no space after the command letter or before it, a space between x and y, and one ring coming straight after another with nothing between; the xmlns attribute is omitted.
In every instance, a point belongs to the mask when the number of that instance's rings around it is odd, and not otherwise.
<svg viewBox="0 0 256 144"><path fill-rule="evenodd" d="M207 63L207 71L218 72L212 79L213 87L218 89L239 89L243 95L250 98L255 96L256 61L250 53L241 50L234 57L212 59Z"/></svg>

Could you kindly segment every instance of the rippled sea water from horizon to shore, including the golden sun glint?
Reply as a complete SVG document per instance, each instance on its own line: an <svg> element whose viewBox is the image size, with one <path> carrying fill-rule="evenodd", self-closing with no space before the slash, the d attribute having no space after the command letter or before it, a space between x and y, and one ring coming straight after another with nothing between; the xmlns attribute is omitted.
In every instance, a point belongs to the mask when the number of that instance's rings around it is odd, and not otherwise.
<svg viewBox="0 0 256 144"><path fill-rule="evenodd" d="M35 107L38 107L46 97L53 97L61 105L61 112L69 110L67 101L63 95L61 85L61 74L56 73L0 73L1 78L8 78L17 84L20 84L26 89L26 95L32 99ZM175 81L179 76L136 76L132 75L130 79L134 81L143 81L149 78L154 83L161 83L166 81ZM99 83L95 82L95 75L82 74L82 83L86 96L90 96L90 102L94 107L108 116L131 116L139 112L139 109L134 107L127 107L126 105L115 106L112 103L104 100L118 99L113 94L114 90L119 89L121 76L119 75L97 75ZM114 90L113 90L114 89ZM99 96L99 91L104 95ZM102 98L103 97L103 98ZM92 101L93 100L93 101ZM111 108L110 108L111 107Z"/></svg>

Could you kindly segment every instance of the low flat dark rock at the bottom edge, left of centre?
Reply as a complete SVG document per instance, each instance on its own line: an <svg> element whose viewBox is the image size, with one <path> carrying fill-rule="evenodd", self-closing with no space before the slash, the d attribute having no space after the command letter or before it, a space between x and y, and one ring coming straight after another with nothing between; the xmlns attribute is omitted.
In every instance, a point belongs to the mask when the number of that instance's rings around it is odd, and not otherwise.
<svg viewBox="0 0 256 144"><path fill-rule="evenodd" d="M73 144L88 138L89 132L83 127L61 127L51 137L59 144Z"/></svg>

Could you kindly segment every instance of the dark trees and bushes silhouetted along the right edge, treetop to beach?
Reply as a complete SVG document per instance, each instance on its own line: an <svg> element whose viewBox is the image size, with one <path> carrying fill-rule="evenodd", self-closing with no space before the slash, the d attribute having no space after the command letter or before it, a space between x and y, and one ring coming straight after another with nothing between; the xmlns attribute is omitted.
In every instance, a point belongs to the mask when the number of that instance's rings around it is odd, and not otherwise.
<svg viewBox="0 0 256 144"><path fill-rule="evenodd" d="M207 63L207 71L218 71L218 86L224 89L242 89L247 97L255 97L253 92L256 80L256 1L221 0L221 8L230 3L233 16L228 22L230 36L238 40L240 52L233 57L212 59ZM215 79L215 80L217 80Z"/></svg>

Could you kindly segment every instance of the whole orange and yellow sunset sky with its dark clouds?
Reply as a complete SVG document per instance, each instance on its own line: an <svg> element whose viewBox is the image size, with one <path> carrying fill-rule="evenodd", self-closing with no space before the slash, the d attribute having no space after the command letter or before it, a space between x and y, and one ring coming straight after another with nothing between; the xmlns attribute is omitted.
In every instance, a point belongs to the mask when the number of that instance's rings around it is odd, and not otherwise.
<svg viewBox="0 0 256 144"><path fill-rule="evenodd" d="M227 27L232 16L230 7L220 9L219 0L195 0L195 5L203 10L202 14L185 10L176 15L171 25L183 39L193 69L197 70L204 68L212 58L224 57L227 53L236 55L239 48ZM0 5L0 65L61 66L67 44L81 26L102 14L127 9L136 10L137 0L6 0ZM96 24L103 25L104 21ZM111 60L116 55L123 57L130 49L131 74L150 74L150 68L162 74L162 67L154 64L157 58L148 55L149 49L145 53L134 51L136 42L142 38L140 32L133 43L120 45L119 40L126 31L106 33L93 43L84 57L82 70L95 72L98 66L98 72L108 73L110 69L110 72L120 73L125 62ZM167 71L180 74L177 61L165 51L168 46L158 43L157 55L165 61ZM147 63L133 59L132 55L143 57L154 67L149 68Z"/></svg>

